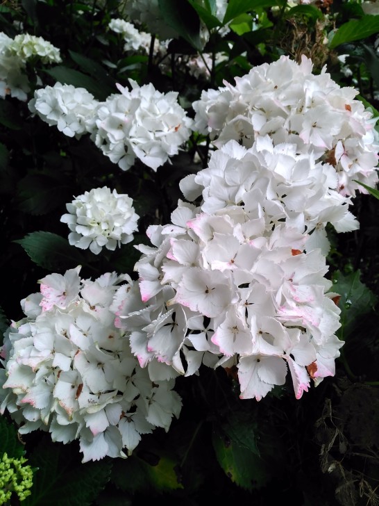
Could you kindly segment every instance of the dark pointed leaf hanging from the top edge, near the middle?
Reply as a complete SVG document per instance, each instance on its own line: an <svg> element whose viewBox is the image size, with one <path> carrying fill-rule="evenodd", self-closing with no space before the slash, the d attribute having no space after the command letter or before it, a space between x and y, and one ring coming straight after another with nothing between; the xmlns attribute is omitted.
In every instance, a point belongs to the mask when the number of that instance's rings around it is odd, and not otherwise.
<svg viewBox="0 0 379 506"><path fill-rule="evenodd" d="M165 22L192 47L201 51L200 19L192 5L177 0L158 0L158 3Z"/></svg>

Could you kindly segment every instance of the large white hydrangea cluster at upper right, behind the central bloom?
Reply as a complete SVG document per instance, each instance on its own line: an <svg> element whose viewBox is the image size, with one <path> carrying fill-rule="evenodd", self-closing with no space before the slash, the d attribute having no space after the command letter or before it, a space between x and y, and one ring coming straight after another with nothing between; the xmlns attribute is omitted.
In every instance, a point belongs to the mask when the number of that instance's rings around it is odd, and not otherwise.
<svg viewBox="0 0 379 506"><path fill-rule="evenodd" d="M234 86L203 91L193 104L195 129L210 133L217 147L230 139L251 147L267 134L275 145L295 143L298 152L334 166L339 193L367 193L354 180L378 182L376 119L355 99L357 90L340 88L325 68L312 74L312 67L305 56L300 64L282 56L235 78Z"/></svg>

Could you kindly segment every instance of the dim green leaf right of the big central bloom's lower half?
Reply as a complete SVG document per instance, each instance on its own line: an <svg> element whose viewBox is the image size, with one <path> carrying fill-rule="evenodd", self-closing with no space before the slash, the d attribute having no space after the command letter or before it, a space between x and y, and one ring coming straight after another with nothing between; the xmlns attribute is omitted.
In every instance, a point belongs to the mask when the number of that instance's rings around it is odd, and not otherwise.
<svg viewBox="0 0 379 506"><path fill-rule="evenodd" d="M346 337L353 332L357 319L372 311L377 298L360 281L360 270L346 276L339 270L335 272L332 290L341 296L338 302L341 309L341 327L338 329L337 335L342 341L346 341Z"/></svg>

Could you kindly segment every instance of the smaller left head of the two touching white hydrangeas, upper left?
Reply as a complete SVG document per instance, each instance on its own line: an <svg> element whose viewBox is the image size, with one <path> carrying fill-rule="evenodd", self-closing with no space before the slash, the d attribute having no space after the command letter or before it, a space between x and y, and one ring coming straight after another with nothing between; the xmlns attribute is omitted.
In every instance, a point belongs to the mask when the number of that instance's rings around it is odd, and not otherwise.
<svg viewBox="0 0 379 506"><path fill-rule="evenodd" d="M85 88L61 83L35 90L28 104L29 110L44 122L77 139L94 131L98 106L99 102Z"/></svg>

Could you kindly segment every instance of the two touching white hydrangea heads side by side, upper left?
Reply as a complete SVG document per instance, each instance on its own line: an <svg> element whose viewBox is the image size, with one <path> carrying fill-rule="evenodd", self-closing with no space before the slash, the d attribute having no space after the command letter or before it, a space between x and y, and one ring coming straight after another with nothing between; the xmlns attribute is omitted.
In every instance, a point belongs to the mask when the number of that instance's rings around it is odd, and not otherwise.
<svg viewBox="0 0 379 506"><path fill-rule="evenodd" d="M33 114L69 137L91 139L110 161L128 170L135 159L156 171L178 154L192 133L193 120L178 104L178 93L161 93L152 84L132 90L117 84L120 93L97 101L85 88L56 83L35 90L29 101Z"/></svg>

